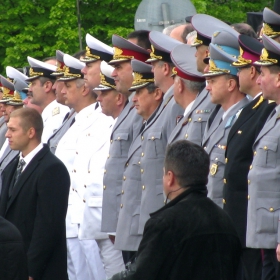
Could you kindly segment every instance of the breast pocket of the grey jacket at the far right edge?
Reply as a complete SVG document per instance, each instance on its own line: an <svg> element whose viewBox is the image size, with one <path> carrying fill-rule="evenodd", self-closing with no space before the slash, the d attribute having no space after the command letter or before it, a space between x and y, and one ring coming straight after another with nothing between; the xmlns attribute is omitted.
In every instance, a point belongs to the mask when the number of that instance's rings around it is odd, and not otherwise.
<svg viewBox="0 0 280 280"><path fill-rule="evenodd" d="M257 149L255 164L261 167L276 167L278 138L272 136L264 137Z"/></svg>

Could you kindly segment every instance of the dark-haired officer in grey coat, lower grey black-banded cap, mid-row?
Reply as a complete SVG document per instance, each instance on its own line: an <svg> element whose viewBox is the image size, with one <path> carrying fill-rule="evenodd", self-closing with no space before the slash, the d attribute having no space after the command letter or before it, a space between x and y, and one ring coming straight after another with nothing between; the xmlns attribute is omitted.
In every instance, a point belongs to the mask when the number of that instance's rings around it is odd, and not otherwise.
<svg viewBox="0 0 280 280"><path fill-rule="evenodd" d="M136 91L132 98L137 113L143 118L142 129L148 125L162 102L162 91L154 84L151 66L132 60L134 81L130 91ZM115 248L123 251L138 250L142 234L138 233L140 202L143 191L141 185L141 130L132 142L125 163L121 191L121 205L116 231Z"/></svg>

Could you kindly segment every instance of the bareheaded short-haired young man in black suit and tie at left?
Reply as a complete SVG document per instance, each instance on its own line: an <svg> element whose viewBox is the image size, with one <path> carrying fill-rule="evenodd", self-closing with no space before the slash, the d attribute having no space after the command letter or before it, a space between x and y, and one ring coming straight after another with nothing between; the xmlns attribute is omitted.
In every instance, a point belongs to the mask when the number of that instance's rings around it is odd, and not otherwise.
<svg viewBox="0 0 280 280"><path fill-rule="evenodd" d="M68 172L41 144L43 121L37 111L18 109L7 126L9 145L20 155L3 171L0 215L22 235L29 280L67 280Z"/></svg>

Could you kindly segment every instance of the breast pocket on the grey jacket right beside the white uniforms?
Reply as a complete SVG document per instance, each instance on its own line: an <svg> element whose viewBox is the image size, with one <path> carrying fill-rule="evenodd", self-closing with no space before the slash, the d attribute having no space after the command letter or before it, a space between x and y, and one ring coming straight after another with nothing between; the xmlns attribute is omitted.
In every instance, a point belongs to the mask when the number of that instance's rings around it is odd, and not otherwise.
<svg viewBox="0 0 280 280"><path fill-rule="evenodd" d="M114 145L110 149L110 153L112 157L126 158L130 146L129 133L128 132L114 133L113 139L111 140L111 144Z"/></svg>

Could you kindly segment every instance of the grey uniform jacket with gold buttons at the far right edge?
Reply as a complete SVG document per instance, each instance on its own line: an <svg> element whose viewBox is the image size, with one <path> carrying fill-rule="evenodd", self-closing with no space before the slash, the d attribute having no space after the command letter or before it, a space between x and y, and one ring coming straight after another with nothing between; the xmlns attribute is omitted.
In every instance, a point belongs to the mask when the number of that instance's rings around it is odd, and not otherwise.
<svg viewBox="0 0 280 280"><path fill-rule="evenodd" d="M280 105L276 110L253 145L246 233L250 248L275 249L280 243Z"/></svg>

